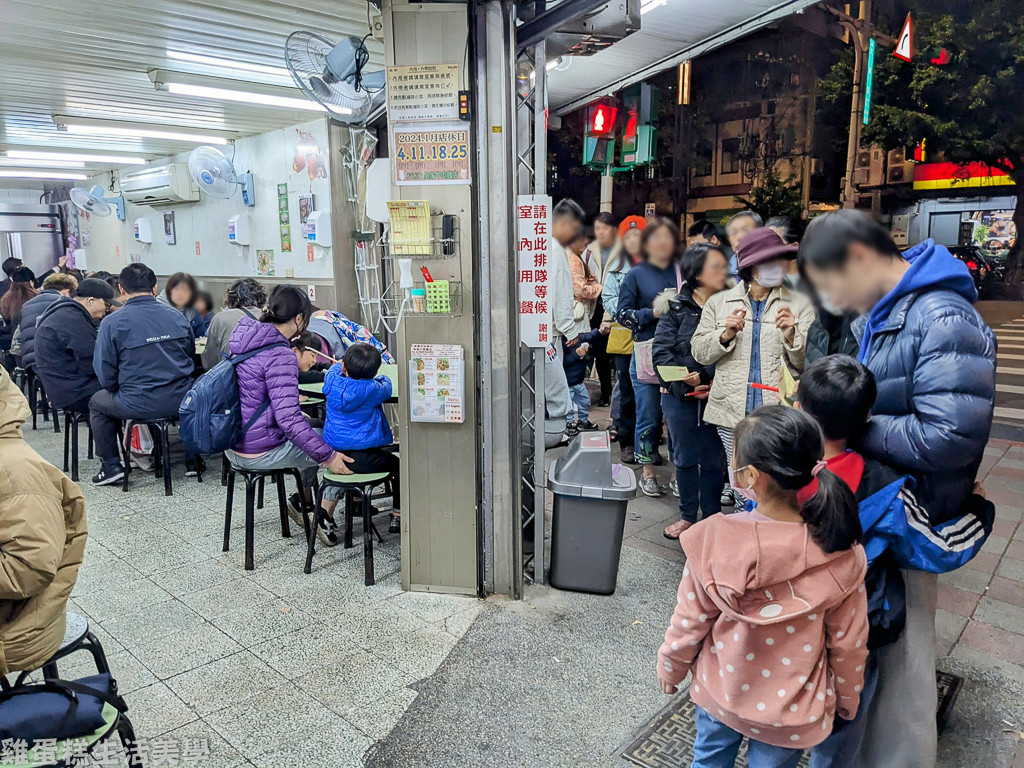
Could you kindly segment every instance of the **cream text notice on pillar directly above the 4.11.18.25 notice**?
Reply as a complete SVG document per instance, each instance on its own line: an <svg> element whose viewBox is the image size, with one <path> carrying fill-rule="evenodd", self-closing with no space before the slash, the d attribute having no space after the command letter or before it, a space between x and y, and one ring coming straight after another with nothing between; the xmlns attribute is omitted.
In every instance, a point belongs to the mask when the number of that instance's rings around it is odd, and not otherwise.
<svg viewBox="0 0 1024 768"><path fill-rule="evenodd" d="M391 123L459 119L459 65L387 68L387 117Z"/></svg>

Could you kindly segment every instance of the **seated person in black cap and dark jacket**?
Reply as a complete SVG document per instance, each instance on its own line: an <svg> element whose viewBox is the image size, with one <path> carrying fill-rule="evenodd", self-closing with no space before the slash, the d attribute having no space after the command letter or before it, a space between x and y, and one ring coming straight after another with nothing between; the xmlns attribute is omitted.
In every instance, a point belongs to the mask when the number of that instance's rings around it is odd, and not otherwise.
<svg viewBox="0 0 1024 768"><path fill-rule="evenodd" d="M58 297L39 316L36 375L43 380L53 408L88 412L89 398L100 388L92 368L99 321L112 306L121 306L114 298L114 289L104 281L87 278L75 298Z"/></svg>

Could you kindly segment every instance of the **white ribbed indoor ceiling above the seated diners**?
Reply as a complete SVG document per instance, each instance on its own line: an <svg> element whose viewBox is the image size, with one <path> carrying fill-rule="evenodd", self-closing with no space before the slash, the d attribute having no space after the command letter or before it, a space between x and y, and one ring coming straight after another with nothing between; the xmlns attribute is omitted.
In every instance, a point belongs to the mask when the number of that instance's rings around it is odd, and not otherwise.
<svg viewBox="0 0 1024 768"><path fill-rule="evenodd" d="M0 148L75 147L154 157L189 148L181 141L69 134L57 130L53 115L239 136L307 121L317 113L157 91L146 72L259 79L172 60L166 51L284 68L290 33L361 38L367 7L360 0L0 0ZM373 38L367 44L372 63L381 65L380 44ZM251 89L245 82L238 88ZM282 93L302 97L290 87ZM90 165L89 171L99 168ZM7 181L0 178L0 184Z"/></svg>

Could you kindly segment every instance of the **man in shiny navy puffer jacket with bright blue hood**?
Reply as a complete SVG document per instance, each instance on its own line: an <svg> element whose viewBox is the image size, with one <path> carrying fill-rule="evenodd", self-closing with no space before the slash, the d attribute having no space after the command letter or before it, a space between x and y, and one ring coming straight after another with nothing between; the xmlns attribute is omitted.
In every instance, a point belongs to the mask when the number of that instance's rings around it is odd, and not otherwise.
<svg viewBox="0 0 1024 768"><path fill-rule="evenodd" d="M853 333L879 396L861 453L916 480L932 524L955 517L974 487L995 399L995 340L973 306L967 267L931 240L901 255L889 232L853 210L814 219L800 262L823 304L866 313ZM906 627L879 653L861 768L935 765L938 582L924 571L903 577Z"/></svg>

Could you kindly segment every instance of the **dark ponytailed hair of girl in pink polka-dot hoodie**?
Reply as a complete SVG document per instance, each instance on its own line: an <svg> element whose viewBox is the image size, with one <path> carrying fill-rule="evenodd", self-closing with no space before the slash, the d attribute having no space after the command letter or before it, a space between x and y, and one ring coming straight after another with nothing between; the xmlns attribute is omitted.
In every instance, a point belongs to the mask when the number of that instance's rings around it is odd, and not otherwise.
<svg viewBox="0 0 1024 768"><path fill-rule="evenodd" d="M735 432L737 466L753 465L780 488L814 488L800 505L800 516L825 552L849 549L863 536L857 500L842 478L823 465L821 428L802 411L765 406L748 416Z"/></svg>

